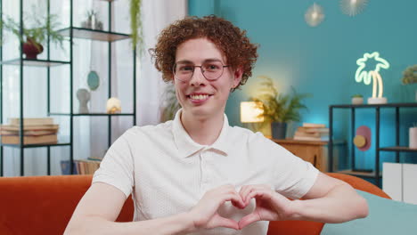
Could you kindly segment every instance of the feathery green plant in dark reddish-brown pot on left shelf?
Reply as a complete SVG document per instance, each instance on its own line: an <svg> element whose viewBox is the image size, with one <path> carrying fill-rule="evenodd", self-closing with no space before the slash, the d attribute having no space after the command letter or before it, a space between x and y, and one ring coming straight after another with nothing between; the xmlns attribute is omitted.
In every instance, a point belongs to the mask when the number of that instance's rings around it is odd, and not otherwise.
<svg viewBox="0 0 417 235"><path fill-rule="evenodd" d="M21 43L23 43L23 53L26 59L36 60L37 55L44 51L43 44L49 40L52 43L59 44L62 47L64 37L56 30L59 27L58 16L50 14L45 18L32 17L34 27L25 28L23 23L23 34L20 34L20 23L13 20L11 17L6 17L5 20L0 21L0 28L9 30L17 36Z"/></svg>

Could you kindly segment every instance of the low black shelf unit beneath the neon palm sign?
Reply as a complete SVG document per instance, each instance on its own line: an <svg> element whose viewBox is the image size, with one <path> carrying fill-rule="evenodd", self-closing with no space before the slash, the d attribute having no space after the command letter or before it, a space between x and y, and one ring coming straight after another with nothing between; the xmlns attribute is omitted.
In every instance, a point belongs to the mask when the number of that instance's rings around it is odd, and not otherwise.
<svg viewBox="0 0 417 235"><path fill-rule="evenodd" d="M333 112L335 109L350 109L350 121L351 121L351 134L352 136L355 135L355 123L356 123L356 109L375 109L375 170L372 172L362 171L356 169L355 163L355 147L354 143L351 142L352 148L352 156L351 166L352 169L350 170L342 170L337 171L338 173L344 174L352 174L359 177L365 178L373 178L375 179L375 184L380 186L380 151L393 151L396 152L396 162L399 163L399 153L400 152L415 152L417 154L417 149L410 149L405 146L399 146L400 144L400 136L399 136L399 126L400 126L400 109L410 109L410 108L417 108L417 103L410 102L410 103L386 103L386 104L339 104L339 105L330 105L329 106L329 172L334 172L332 169L333 164ZM380 109L395 109L396 111L396 118L395 118L395 125L396 125L396 145L397 146L388 146L388 147L380 147Z"/></svg>

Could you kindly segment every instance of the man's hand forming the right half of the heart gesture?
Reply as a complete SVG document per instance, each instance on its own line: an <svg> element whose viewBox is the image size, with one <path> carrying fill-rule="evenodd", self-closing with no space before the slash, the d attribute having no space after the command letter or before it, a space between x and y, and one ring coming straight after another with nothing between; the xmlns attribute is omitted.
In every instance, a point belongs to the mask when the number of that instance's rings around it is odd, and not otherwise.
<svg viewBox="0 0 417 235"><path fill-rule="evenodd" d="M239 222L240 229L257 221L286 220L293 213L290 199L271 190L267 185L243 186L239 194L244 202L244 207L248 206L250 199L256 199L255 210L241 218Z"/></svg>

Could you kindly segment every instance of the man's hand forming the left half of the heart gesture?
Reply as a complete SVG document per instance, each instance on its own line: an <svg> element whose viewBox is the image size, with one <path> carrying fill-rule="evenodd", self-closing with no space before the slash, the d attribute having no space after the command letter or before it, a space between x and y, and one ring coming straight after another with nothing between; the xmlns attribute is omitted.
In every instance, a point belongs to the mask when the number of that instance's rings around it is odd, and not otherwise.
<svg viewBox="0 0 417 235"><path fill-rule="evenodd" d="M239 208L244 208L247 205L243 203L241 195L234 189L233 185L224 185L208 190L199 203L192 207L189 212L194 228L199 230L226 227L239 230L239 223L217 214L218 207L225 204L226 201L231 201L234 207Z"/></svg>

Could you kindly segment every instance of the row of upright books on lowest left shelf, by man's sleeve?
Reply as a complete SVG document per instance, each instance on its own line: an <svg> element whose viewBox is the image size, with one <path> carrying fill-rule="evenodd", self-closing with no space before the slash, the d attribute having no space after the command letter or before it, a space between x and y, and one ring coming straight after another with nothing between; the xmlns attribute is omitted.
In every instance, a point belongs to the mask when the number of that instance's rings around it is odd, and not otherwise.
<svg viewBox="0 0 417 235"><path fill-rule="evenodd" d="M102 158L74 159L73 174L94 174L100 167ZM61 161L62 174L70 174L70 161Z"/></svg>

